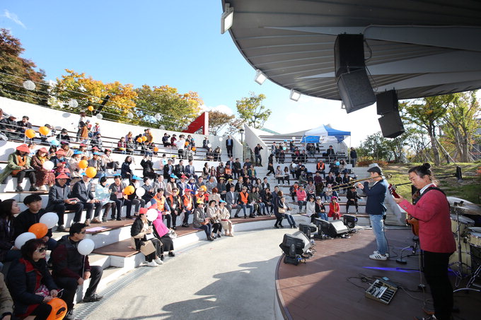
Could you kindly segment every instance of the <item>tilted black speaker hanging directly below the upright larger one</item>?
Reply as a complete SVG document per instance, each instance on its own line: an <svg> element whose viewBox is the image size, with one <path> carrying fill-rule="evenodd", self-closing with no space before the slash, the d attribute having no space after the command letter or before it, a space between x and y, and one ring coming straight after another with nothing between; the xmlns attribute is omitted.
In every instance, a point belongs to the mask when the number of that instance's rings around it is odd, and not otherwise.
<svg viewBox="0 0 481 320"><path fill-rule="evenodd" d="M374 95L366 69L343 73L337 78L337 90L339 90L347 113L362 109L376 102L376 95Z"/></svg>

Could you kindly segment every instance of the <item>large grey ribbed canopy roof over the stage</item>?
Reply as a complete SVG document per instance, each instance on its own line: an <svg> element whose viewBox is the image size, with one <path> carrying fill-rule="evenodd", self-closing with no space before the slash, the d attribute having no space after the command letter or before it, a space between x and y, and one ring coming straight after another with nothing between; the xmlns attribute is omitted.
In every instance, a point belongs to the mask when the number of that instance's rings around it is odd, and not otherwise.
<svg viewBox="0 0 481 320"><path fill-rule="evenodd" d="M481 1L221 0L231 37L267 78L304 95L340 100L334 42L364 34L378 93L399 99L481 88Z"/></svg>

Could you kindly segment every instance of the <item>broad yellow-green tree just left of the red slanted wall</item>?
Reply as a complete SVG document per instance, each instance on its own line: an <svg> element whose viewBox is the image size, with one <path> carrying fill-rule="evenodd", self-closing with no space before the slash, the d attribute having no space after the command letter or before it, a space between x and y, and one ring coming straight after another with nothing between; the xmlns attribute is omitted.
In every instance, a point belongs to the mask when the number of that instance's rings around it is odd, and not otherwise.
<svg viewBox="0 0 481 320"><path fill-rule="evenodd" d="M202 99L197 93L178 93L177 88L163 85L137 88L137 117L154 122L167 130L182 131L201 112ZM156 114L160 115L156 119Z"/></svg>

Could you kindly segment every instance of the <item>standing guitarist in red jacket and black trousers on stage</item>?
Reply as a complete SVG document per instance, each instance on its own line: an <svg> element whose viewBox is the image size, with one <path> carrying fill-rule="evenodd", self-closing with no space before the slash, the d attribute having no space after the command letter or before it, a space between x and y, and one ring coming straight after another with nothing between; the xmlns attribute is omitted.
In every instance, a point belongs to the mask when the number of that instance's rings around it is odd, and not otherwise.
<svg viewBox="0 0 481 320"><path fill-rule="evenodd" d="M431 289L434 315L417 319L451 319L453 287L448 278L449 256L456 251L451 232L449 203L444 191L439 189L430 170L424 163L409 170L409 179L419 190L413 203L405 198L394 198L407 213L419 221L419 244L423 250L424 277Z"/></svg>

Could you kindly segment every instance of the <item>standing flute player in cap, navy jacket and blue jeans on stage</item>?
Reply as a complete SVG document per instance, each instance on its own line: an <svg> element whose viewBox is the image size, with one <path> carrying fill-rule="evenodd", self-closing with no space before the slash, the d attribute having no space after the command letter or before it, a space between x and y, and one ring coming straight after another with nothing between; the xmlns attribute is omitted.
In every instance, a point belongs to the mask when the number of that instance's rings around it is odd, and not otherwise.
<svg viewBox="0 0 481 320"><path fill-rule="evenodd" d="M386 206L384 206L384 199L386 198L387 186L383 183L383 172L381 167L370 167L367 172L371 174L372 186L369 182L357 183L357 186L364 191L367 196L366 213L369 214L373 233L376 237L377 250L369 256L374 260L387 260L388 254L388 240L384 234L384 215L386 215Z"/></svg>

